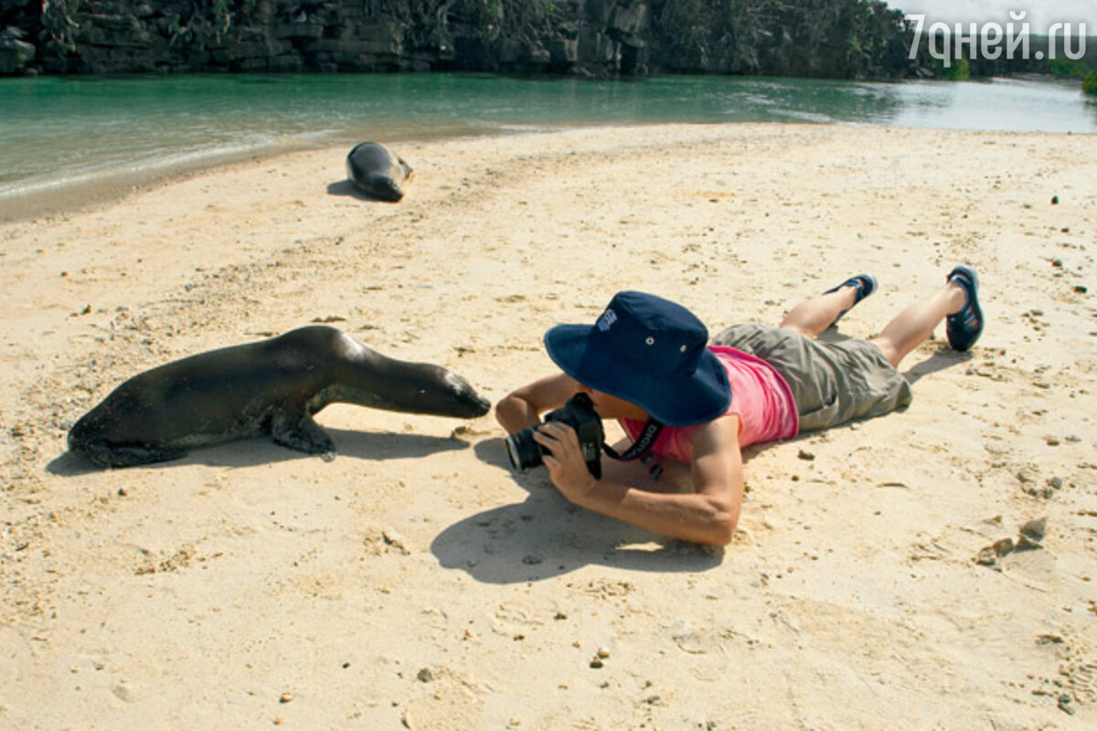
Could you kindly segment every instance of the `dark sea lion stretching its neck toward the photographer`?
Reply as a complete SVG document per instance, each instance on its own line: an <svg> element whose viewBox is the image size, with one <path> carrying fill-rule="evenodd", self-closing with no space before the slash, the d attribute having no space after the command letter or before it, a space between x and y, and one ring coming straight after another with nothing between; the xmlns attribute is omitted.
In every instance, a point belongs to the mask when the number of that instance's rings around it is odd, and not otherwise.
<svg viewBox="0 0 1097 731"><path fill-rule="evenodd" d="M72 426L68 446L103 467L178 459L261 434L321 454L335 444L313 414L335 402L456 418L490 406L441 366L395 361L336 328L310 325L138 374Z"/></svg>

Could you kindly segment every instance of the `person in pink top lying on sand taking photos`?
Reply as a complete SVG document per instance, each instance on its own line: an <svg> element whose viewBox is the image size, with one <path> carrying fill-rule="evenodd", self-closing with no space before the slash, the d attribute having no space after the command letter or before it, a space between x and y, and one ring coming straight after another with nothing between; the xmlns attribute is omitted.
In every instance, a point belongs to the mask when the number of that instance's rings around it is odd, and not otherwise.
<svg viewBox="0 0 1097 731"><path fill-rule="evenodd" d="M898 364L942 319L958 351L982 334L979 279L961 265L875 338L815 340L875 289L872 275L851 277L794 307L779 328L733 325L708 346L708 330L680 305L618 293L593 325L561 324L545 333L548 356L563 373L509 393L496 418L511 435L534 427L553 484L573 503L668 536L726 545L743 503L743 447L904 407L911 387ZM596 478L575 429L541 423L542 413L575 393L588 395L597 414L619 420L632 439L654 439L645 456L689 465L694 492L651 492Z"/></svg>

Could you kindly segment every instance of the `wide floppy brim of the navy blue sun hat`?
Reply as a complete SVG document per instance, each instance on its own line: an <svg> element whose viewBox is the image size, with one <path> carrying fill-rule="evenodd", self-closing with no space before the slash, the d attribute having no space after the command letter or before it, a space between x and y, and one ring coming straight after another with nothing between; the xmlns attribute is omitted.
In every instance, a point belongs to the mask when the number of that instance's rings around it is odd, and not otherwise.
<svg viewBox="0 0 1097 731"><path fill-rule="evenodd" d="M635 403L668 426L690 426L723 415L732 402L727 373L705 350L693 374L680 378L635 373L613 353L588 349L593 325L558 324L544 336L548 357L580 384Z"/></svg>

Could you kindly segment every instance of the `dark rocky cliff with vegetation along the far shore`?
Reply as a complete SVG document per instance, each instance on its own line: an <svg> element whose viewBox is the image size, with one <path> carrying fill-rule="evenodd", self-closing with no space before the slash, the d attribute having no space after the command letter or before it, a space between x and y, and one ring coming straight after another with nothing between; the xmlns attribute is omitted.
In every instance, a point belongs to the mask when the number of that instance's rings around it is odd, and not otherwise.
<svg viewBox="0 0 1097 731"><path fill-rule="evenodd" d="M491 71L903 78L877 0L2 0L0 73Z"/></svg>

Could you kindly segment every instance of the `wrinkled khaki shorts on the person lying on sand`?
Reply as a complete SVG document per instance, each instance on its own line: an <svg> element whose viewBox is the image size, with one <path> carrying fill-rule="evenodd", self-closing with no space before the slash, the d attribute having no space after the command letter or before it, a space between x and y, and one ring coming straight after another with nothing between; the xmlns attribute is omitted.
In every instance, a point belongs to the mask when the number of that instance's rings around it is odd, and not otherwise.
<svg viewBox="0 0 1097 731"><path fill-rule="evenodd" d="M712 343L777 368L792 389L801 432L879 416L913 398L903 375L867 340L825 343L784 328L737 324L717 333Z"/></svg>

